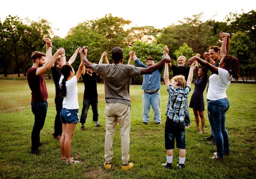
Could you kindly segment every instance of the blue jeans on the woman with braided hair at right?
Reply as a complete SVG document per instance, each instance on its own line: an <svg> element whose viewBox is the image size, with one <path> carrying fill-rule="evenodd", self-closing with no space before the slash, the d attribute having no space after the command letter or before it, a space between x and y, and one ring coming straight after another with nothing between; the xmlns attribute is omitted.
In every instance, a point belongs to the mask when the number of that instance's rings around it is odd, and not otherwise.
<svg viewBox="0 0 256 179"><path fill-rule="evenodd" d="M225 115L229 109L229 99L207 100L207 115L217 147L218 157L223 158L224 153L229 153L229 135L225 127Z"/></svg>

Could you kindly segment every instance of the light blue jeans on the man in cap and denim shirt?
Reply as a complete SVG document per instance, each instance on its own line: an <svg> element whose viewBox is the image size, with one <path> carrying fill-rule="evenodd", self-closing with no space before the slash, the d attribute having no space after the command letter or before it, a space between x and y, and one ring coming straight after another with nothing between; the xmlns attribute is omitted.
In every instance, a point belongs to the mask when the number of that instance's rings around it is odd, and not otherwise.
<svg viewBox="0 0 256 179"><path fill-rule="evenodd" d="M154 111L154 120L155 123L161 122L161 111L160 111L160 90L153 94L149 94L147 92L143 92L142 96L142 105L143 105L143 113L142 118L143 122L149 121L149 110L150 105Z"/></svg>

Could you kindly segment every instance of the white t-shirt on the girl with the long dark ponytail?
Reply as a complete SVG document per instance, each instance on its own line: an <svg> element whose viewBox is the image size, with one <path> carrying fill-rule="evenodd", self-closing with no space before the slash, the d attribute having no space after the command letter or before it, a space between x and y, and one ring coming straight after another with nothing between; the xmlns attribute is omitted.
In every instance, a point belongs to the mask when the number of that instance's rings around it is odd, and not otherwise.
<svg viewBox="0 0 256 179"><path fill-rule="evenodd" d="M61 86L64 76L61 76L59 84ZM72 79L66 81L67 95L63 99L62 106L66 109L79 109L78 105L78 89L77 79L74 76Z"/></svg>

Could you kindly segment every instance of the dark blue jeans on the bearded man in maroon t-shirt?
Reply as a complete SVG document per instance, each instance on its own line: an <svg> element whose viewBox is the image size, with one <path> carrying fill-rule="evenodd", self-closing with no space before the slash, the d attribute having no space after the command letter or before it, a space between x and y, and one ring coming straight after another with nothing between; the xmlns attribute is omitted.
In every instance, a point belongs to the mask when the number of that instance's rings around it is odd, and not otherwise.
<svg viewBox="0 0 256 179"><path fill-rule="evenodd" d="M47 107L47 100L43 102L31 102L31 110L35 115L35 122L31 133L31 152L38 151L40 145L40 131L45 124Z"/></svg>

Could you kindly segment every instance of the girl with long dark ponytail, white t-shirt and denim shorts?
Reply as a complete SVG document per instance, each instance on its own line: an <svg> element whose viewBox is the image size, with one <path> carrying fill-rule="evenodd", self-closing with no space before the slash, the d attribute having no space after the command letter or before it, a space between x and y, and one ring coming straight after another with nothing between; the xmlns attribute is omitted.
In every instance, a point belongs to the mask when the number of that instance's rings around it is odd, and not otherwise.
<svg viewBox="0 0 256 179"><path fill-rule="evenodd" d="M71 139L74 134L76 123L79 122L79 105L78 105L78 90L77 81L79 80L82 70L83 61L79 65L79 69L74 72L71 65L66 64L61 68L61 96L63 99L63 109L61 110L62 134L60 140L61 160L66 164L77 164L78 160L73 160L71 157Z"/></svg>

